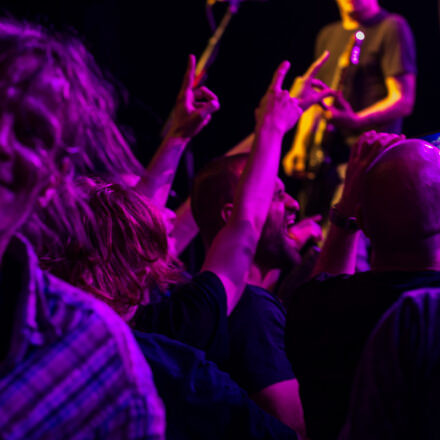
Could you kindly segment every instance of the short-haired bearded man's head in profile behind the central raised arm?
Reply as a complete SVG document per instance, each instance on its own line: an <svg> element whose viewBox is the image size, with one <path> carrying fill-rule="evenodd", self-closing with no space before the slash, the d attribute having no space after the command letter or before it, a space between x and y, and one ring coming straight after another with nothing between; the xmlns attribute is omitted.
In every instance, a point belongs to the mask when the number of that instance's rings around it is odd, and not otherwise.
<svg viewBox="0 0 440 440"><path fill-rule="evenodd" d="M228 156L209 163L195 178L191 207L208 247L231 214L235 190L246 165L247 154ZM299 205L277 179L275 192L255 254L255 263L266 269L290 266L300 260L296 242L289 235Z"/></svg>

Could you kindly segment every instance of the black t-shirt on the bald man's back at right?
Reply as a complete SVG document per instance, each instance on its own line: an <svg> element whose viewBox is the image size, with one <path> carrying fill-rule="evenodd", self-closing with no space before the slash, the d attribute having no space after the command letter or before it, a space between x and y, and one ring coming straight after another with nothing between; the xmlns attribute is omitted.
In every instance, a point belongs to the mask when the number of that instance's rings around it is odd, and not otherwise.
<svg viewBox="0 0 440 440"><path fill-rule="evenodd" d="M323 274L298 290L287 313L286 350L312 439L337 437L368 336L403 292L422 286L440 287L440 272Z"/></svg>

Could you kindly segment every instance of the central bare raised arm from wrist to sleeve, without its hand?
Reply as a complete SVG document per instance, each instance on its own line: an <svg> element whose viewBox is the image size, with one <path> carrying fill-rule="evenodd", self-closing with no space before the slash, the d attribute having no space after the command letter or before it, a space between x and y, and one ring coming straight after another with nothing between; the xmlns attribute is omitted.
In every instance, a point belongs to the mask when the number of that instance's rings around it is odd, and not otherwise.
<svg viewBox="0 0 440 440"><path fill-rule="evenodd" d="M225 227L215 237L202 267L216 273L227 294L228 314L239 301L275 188L282 134L259 129Z"/></svg>

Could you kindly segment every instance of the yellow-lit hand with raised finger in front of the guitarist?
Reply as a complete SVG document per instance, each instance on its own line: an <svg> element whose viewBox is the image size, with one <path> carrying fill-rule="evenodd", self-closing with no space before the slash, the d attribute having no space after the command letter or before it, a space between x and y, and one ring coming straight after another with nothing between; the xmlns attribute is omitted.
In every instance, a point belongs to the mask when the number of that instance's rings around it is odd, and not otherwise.
<svg viewBox="0 0 440 440"><path fill-rule="evenodd" d="M295 78L290 89L290 96L299 99L299 105L303 110L307 110L310 106L322 102L327 96L333 96L335 92L325 83L316 78L330 56L329 51L323 54L307 69L307 72Z"/></svg>

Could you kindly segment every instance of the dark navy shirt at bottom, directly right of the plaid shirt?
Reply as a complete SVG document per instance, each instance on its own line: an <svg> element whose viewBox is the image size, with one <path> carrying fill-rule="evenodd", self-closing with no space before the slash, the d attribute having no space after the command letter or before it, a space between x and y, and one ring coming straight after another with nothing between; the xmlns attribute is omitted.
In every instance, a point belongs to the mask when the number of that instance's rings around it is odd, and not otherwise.
<svg viewBox="0 0 440 440"><path fill-rule="evenodd" d="M162 335L135 332L135 337L165 404L168 440L297 438L202 351Z"/></svg>

